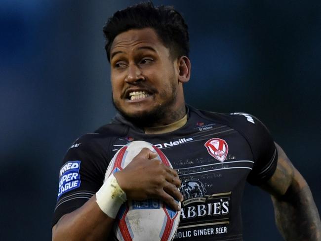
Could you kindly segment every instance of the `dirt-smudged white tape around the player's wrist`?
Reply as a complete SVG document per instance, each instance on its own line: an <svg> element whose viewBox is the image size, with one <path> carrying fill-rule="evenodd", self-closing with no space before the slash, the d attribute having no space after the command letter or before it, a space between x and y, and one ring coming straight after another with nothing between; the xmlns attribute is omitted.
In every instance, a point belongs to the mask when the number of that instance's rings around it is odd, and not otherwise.
<svg viewBox="0 0 321 241"><path fill-rule="evenodd" d="M96 193L98 206L111 218L116 218L121 204L126 200L126 194L120 188L114 174L107 178L106 182Z"/></svg>

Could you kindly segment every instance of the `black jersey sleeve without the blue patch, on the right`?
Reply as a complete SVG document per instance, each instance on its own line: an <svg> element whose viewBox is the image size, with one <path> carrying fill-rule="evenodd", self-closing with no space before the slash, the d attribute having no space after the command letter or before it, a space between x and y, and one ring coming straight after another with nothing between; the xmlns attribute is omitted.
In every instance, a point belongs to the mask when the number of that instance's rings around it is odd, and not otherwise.
<svg viewBox="0 0 321 241"><path fill-rule="evenodd" d="M271 178L277 167L278 153L273 138L257 118L245 113L233 115L239 116L239 130L247 139L254 158L247 181L252 185L260 185Z"/></svg>

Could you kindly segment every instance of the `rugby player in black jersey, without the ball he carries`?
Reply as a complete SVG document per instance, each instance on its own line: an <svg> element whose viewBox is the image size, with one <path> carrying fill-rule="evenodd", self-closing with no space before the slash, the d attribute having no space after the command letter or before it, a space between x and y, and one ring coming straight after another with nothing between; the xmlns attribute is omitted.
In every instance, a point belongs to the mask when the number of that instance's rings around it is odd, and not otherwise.
<svg viewBox="0 0 321 241"><path fill-rule="evenodd" d="M180 13L141 3L117 11L104 34L119 114L68 150L52 240L114 240L111 227L124 201L157 198L176 210L182 201L175 240L241 241L246 180L271 194L285 240L321 240L309 186L266 127L248 114L199 111L185 104L183 84L190 79L191 63ZM143 149L103 183L117 147L132 140L161 148L174 169Z"/></svg>

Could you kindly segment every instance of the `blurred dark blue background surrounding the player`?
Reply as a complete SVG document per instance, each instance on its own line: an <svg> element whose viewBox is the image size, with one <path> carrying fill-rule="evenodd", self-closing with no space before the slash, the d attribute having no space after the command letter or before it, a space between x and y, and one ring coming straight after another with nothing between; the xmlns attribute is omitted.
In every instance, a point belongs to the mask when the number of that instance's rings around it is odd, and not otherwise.
<svg viewBox="0 0 321 241"><path fill-rule="evenodd" d="M102 26L134 0L0 0L0 240L50 240L61 160L110 121ZM190 28L186 102L247 112L320 192L321 1L155 0ZM247 186L245 241L279 241L268 194Z"/></svg>

